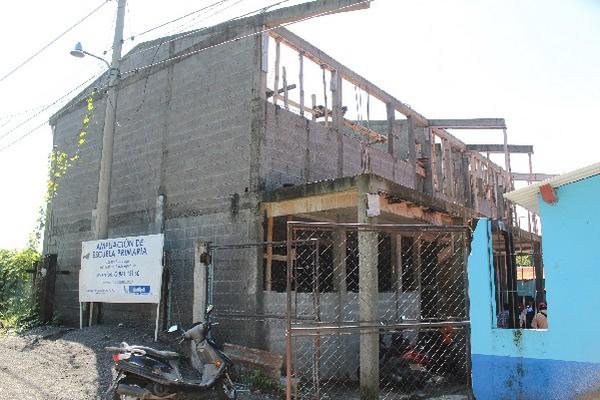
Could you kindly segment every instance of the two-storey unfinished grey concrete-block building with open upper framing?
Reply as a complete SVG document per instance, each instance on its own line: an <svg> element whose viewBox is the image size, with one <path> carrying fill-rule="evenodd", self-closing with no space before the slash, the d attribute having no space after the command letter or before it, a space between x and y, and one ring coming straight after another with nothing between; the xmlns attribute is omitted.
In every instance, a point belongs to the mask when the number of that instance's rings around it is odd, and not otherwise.
<svg viewBox="0 0 600 400"><path fill-rule="evenodd" d="M511 172L478 151L489 147L471 149L448 131L505 133L504 120L428 119L281 26L368 6L355 3L275 10L124 57L109 237L164 232L165 324L193 319L199 241L283 241L288 220L365 222L366 207L378 223L508 215ZM93 238L105 106L101 91L89 141L49 208L44 252L58 255L55 312L69 324L79 318L81 241ZM79 97L52 117L55 146L76 147L85 107ZM286 257L254 246L218 260L227 267L213 276L217 312L246 316L230 321L229 340L281 350ZM153 314L149 305L104 304L100 319L150 325Z"/></svg>

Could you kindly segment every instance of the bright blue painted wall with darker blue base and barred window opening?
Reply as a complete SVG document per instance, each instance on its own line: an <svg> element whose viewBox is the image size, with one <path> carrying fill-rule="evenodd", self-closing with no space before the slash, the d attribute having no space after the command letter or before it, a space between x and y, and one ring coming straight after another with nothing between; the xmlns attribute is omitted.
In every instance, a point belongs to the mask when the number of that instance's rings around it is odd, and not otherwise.
<svg viewBox="0 0 600 400"><path fill-rule="evenodd" d="M480 220L469 257L473 391L483 399L600 398L600 176L540 200L548 325L495 328L491 225Z"/></svg>

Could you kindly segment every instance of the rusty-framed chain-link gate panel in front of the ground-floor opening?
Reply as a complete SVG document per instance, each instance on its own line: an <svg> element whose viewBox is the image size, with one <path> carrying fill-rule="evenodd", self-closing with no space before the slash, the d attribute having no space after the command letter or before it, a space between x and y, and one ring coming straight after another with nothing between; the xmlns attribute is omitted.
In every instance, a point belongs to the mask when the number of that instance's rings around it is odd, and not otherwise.
<svg viewBox="0 0 600 400"><path fill-rule="evenodd" d="M287 398L468 398L468 232L288 223Z"/></svg>

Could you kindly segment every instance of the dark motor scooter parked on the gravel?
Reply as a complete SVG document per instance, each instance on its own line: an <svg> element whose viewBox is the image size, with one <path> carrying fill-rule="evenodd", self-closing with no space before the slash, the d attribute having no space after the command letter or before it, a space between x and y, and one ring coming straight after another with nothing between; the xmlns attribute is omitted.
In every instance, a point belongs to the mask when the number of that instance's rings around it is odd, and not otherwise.
<svg viewBox="0 0 600 400"><path fill-rule="evenodd" d="M190 342L190 364L180 365L184 356L172 351L161 351L146 346L106 347L113 352L117 376L111 386L113 400L188 400L236 399L236 390L230 379L231 360L210 338L209 333L218 323L210 322L213 306L206 309L204 322L187 331L174 325L169 333L181 333L180 343Z"/></svg>

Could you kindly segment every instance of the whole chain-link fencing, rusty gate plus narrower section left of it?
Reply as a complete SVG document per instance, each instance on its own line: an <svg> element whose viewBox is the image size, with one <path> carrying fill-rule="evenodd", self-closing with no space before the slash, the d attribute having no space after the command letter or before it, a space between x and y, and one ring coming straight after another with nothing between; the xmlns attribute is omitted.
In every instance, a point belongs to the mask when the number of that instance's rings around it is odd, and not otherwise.
<svg viewBox="0 0 600 400"><path fill-rule="evenodd" d="M289 399L467 398L468 241L464 227L289 222L285 241L212 246L215 336L282 356Z"/></svg>

